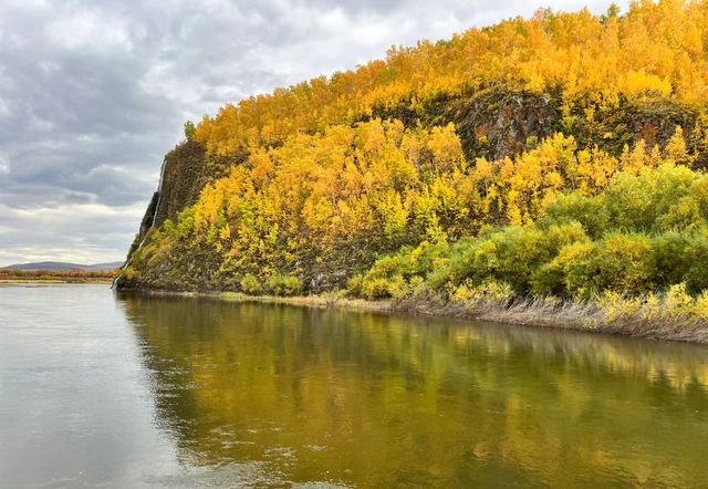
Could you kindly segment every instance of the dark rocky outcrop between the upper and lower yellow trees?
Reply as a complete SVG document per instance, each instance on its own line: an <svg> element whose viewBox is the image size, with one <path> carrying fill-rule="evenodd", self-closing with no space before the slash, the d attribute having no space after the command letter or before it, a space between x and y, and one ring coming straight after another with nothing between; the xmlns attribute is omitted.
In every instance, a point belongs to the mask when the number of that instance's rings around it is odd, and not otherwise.
<svg viewBox="0 0 708 489"><path fill-rule="evenodd" d="M697 124L694 110L668 98L621 100L604 110L574 106L564 113L563 94L531 93L504 85L491 86L459 97L441 96L423 112L402 103L393 110L375 110L373 116L398 118L406 126L454 123L468 160L513 156L544 137L561 132L575 137L581 147L597 146L618 156L625 145L639 139L647 147L666 145L680 125L690 132Z"/></svg>

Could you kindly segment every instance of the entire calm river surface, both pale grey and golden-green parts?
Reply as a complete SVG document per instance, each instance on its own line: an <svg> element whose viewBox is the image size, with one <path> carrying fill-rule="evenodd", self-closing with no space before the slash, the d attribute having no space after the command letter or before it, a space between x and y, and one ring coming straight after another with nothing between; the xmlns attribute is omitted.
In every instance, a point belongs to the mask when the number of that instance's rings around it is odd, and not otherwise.
<svg viewBox="0 0 708 489"><path fill-rule="evenodd" d="M0 487L708 487L708 347L0 287Z"/></svg>

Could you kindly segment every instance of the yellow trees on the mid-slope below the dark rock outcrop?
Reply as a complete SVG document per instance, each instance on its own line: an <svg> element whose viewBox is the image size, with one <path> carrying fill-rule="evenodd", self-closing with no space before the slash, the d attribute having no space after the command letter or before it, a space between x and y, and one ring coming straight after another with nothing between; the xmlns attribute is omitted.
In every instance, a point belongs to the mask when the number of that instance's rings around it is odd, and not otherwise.
<svg viewBox="0 0 708 489"><path fill-rule="evenodd" d="M478 158L470 167L452 125L404 129L398 121L373 119L256 150L202 189L190 209L194 227L176 239L205 242L242 272L262 263L294 267L303 262L299 257L341 253L342 247L373 256L423 240L456 240L487 225L530 223L561 193L593 196L621 168L641 175L687 158L680 129L664 153L647 153L641 141L620 160L596 148L577 150L572 136L555 134L513 158ZM696 206L686 201L685 216L677 206L673 219L699 215ZM584 249L577 245L584 231L575 228L550 230L562 248L554 267ZM176 239L159 240L159 254L168 256ZM571 242L576 247L565 247Z"/></svg>

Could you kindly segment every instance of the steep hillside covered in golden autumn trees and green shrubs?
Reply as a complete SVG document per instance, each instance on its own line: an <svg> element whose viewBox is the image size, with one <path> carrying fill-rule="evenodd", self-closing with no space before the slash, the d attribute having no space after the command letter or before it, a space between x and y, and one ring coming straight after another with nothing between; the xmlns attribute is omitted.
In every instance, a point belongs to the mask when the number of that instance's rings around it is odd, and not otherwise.
<svg viewBox="0 0 708 489"><path fill-rule="evenodd" d="M228 104L166 156L118 285L696 300L707 25L539 10Z"/></svg>

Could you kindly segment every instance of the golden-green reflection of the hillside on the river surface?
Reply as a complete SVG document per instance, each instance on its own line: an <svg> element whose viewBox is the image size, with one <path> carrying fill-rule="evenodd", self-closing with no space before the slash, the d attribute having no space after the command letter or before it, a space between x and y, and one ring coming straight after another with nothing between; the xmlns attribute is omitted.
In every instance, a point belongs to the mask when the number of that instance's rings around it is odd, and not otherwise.
<svg viewBox="0 0 708 489"><path fill-rule="evenodd" d="M200 464L362 483L705 476L705 347L184 299L125 309L162 423Z"/></svg>

